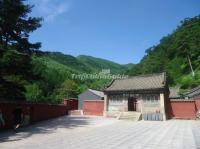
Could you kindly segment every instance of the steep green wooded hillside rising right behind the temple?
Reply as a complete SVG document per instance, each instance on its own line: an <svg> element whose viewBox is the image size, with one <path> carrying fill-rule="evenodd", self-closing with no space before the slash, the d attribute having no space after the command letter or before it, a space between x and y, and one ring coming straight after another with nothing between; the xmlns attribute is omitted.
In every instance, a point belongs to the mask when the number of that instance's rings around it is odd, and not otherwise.
<svg viewBox="0 0 200 149"><path fill-rule="evenodd" d="M147 49L128 74L163 71L167 72L170 86L188 89L200 84L200 16L183 20L172 34Z"/></svg>

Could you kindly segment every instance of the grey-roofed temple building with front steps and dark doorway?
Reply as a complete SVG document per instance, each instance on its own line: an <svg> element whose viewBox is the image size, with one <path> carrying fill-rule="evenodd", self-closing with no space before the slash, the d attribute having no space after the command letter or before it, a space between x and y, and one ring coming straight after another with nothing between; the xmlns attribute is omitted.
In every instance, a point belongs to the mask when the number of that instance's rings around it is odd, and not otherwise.
<svg viewBox="0 0 200 149"><path fill-rule="evenodd" d="M166 120L169 88L166 74L151 74L114 80L104 90L104 115Z"/></svg>

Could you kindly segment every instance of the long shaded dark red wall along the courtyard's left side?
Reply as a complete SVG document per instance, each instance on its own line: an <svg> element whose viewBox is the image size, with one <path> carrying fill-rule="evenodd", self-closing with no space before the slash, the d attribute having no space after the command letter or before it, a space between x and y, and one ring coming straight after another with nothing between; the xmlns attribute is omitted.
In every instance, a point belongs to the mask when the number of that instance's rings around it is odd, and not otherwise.
<svg viewBox="0 0 200 149"><path fill-rule="evenodd" d="M20 107L23 114L30 115L31 122L38 122L67 114L64 105L30 104L30 103L0 103L0 108L5 120L5 128L11 128L13 124L13 111Z"/></svg>

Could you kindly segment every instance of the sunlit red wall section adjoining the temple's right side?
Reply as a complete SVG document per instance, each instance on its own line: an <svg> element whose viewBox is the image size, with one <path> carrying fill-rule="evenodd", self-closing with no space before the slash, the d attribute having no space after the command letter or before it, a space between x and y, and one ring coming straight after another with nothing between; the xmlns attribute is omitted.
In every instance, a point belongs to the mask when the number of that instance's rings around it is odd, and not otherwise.
<svg viewBox="0 0 200 149"><path fill-rule="evenodd" d="M195 119L195 101L170 101L168 103L169 118Z"/></svg>

